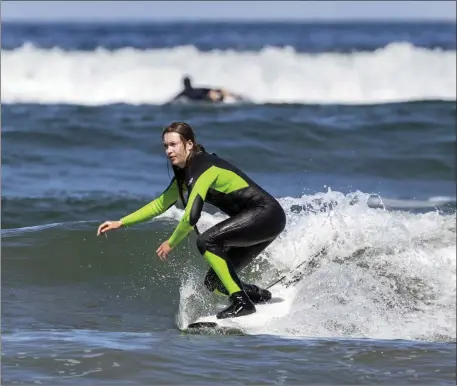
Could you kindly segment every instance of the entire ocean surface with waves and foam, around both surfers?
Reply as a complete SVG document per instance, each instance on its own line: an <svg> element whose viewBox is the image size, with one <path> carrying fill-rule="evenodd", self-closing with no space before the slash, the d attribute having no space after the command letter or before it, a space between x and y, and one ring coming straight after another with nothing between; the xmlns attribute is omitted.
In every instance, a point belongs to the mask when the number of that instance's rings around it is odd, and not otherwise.
<svg viewBox="0 0 457 386"><path fill-rule="evenodd" d="M455 24L2 27L2 384L455 383ZM184 74L252 103L165 105ZM182 331L227 304L194 234L155 255L182 207L96 237L177 120L287 213L241 276L301 280L242 334Z"/></svg>

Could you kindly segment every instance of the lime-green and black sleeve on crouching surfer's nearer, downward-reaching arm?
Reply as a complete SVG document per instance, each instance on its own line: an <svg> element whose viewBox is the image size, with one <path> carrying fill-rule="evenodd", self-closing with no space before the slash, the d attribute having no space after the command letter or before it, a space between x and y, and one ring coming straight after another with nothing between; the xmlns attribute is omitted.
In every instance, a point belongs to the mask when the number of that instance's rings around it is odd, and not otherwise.
<svg viewBox="0 0 457 386"><path fill-rule="evenodd" d="M189 197L189 201L184 211L184 216L181 218L178 226L171 235L168 243L171 247L177 246L190 233L194 225L197 224L203 209L203 203L206 198L206 193L211 185L216 181L219 170L215 166L211 166L195 181L195 186Z"/></svg>

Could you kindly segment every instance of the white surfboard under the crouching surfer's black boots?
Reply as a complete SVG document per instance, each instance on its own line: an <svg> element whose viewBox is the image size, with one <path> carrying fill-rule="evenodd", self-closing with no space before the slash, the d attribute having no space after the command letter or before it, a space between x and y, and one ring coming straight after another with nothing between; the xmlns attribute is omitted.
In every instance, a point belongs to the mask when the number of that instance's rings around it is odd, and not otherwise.
<svg viewBox="0 0 457 386"><path fill-rule="evenodd" d="M256 312L237 318L217 319L216 314L204 316L190 323L183 331L196 334L243 335L246 331L259 330L269 321L285 315L289 301L273 297L268 303L256 304Z"/></svg>

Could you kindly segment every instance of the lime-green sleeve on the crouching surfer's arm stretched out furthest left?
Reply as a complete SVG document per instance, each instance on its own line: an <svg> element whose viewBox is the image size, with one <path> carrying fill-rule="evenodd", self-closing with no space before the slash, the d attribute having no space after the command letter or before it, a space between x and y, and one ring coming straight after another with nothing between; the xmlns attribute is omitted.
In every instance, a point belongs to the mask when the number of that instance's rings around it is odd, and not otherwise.
<svg viewBox="0 0 457 386"><path fill-rule="evenodd" d="M173 178L167 189L155 200L121 219L122 225L130 226L164 213L179 197L178 184Z"/></svg>

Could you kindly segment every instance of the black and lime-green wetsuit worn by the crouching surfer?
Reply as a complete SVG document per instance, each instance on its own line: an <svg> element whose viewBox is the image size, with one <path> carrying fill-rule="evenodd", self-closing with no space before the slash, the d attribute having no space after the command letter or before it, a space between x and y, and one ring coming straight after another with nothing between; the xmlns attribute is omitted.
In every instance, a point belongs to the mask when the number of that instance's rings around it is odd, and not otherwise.
<svg viewBox="0 0 457 386"><path fill-rule="evenodd" d="M283 230L285 213L278 201L229 162L207 152L193 154L185 169L187 190L184 216L168 240L178 245L197 224L203 203L209 203L229 218L199 235L197 247L211 269L206 287L233 294L243 291L236 271L249 264ZM156 200L121 219L125 226L165 212L179 198L175 179Z"/></svg>

